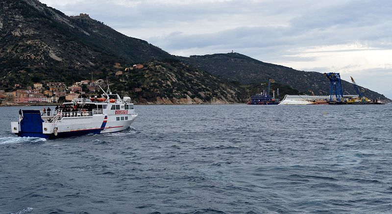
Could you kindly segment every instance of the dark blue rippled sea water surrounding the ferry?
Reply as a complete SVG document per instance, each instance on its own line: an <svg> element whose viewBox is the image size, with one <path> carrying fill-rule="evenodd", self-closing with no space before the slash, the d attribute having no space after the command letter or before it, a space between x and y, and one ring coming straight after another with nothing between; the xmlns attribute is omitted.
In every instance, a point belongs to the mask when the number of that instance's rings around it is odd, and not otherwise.
<svg viewBox="0 0 392 214"><path fill-rule="evenodd" d="M1 107L0 213L392 212L391 104L135 109L126 131L44 140Z"/></svg>

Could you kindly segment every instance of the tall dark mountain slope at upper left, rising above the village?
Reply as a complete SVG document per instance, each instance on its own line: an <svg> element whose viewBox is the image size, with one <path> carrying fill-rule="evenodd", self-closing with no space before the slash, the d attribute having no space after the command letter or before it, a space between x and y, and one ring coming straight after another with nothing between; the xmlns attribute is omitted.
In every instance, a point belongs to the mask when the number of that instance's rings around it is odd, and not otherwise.
<svg viewBox="0 0 392 214"><path fill-rule="evenodd" d="M37 0L0 0L0 87L105 75L104 65L172 57L88 15L68 17ZM18 73L22 75L18 76Z"/></svg>

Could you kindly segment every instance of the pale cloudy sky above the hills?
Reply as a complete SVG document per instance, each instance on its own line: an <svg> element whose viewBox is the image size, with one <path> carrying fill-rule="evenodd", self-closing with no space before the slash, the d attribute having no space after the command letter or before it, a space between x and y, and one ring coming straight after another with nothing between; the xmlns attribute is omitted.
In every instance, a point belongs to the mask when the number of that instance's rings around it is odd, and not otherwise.
<svg viewBox="0 0 392 214"><path fill-rule="evenodd" d="M391 0L40 0L171 54L242 53L340 72L392 98Z"/></svg>

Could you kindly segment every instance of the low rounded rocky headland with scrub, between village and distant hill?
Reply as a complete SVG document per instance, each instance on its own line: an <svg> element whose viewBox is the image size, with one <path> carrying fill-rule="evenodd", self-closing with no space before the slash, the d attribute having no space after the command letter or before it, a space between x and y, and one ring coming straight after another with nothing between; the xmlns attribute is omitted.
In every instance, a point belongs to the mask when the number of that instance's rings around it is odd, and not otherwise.
<svg viewBox="0 0 392 214"><path fill-rule="evenodd" d="M143 69L124 71L113 82L123 83L117 90L145 104L233 103L242 102L239 97L244 93L216 76L176 60L149 62ZM142 91L129 93L135 87Z"/></svg>

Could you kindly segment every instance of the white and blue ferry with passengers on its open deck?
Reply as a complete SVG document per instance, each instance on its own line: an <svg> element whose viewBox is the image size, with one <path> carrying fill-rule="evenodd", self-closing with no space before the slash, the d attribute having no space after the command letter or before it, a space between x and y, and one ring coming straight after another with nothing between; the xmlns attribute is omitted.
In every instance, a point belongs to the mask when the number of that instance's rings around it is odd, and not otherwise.
<svg viewBox="0 0 392 214"><path fill-rule="evenodd" d="M101 88L102 89L102 88ZM102 97L76 98L56 111L23 110L11 130L19 137L46 139L123 131L137 118L130 97L112 94Z"/></svg>

